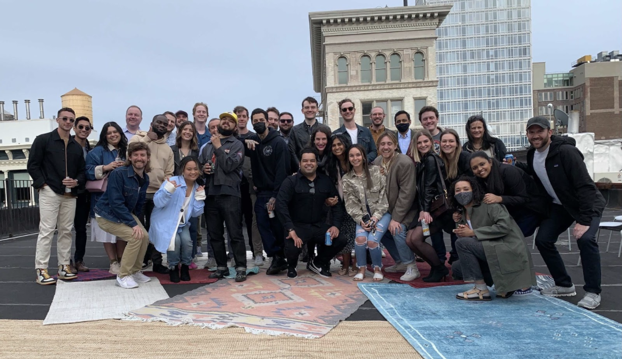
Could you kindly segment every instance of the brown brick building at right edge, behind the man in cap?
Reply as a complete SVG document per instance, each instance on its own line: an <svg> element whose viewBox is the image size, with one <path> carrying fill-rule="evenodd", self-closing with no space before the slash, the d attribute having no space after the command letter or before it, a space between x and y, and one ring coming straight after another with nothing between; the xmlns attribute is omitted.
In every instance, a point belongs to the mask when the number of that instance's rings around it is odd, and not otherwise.
<svg viewBox="0 0 622 359"><path fill-rule="evenodd" d="M567 73L547 74L545 63L533 64L534 116L578 110L580 132L593 132L595 140L622 138L622 55L603 51L572 66Z"/></svg>

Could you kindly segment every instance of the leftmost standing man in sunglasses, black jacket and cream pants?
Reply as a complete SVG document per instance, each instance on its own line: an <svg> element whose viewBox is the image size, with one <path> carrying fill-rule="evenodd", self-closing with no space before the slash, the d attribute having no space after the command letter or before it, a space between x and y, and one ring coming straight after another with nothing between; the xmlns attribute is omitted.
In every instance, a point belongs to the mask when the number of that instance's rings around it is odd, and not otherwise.
<svg viewBox="0 0 622 359"><path fill-rule="evenodd" d="M42 285L56 283L47 272L55 226L58 226L58 278L77 278L70 271L69 262L78 186L85 185L85 160L82 146L70 133L75 118L75 112L69 107L58 110L58 128L37 136L28 157L27 169L32 177L32 187L39 191L40 222L35 269L37 283Z"/></svg>

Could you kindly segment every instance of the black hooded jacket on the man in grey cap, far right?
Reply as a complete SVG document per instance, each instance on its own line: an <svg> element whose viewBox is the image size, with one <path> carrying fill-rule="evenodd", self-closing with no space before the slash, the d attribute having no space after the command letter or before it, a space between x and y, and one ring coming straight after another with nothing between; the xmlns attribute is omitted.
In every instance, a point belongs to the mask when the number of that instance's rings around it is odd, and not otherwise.
<svg viewBox="0 0 622 359"><path fill-rule="evenodd" d="M603 213L605 198L588 174L583 154L575 147L576 143L572 137L551 136L544 167L562 206L578 224L590 226L592 218ZM544 185L534 171L535 151L535 148L527 151L526 172L544 190Z"/></svg>

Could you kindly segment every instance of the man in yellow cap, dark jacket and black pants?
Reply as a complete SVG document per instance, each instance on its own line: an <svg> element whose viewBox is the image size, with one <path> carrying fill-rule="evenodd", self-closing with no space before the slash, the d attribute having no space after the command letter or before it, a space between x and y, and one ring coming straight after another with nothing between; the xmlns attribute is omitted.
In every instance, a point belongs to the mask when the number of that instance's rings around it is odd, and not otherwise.
<svg viewBox="0 0 622 359"><path fill-rule="evenodd" d="M233 133L238 125L233 112L220 115L218 133L201 151L199 161L205 174L205 218L210 233L210 243L216 258L216 272L210 278L223 278L229 274L225 222L231 241L231 254L235 261L236 281L246 280L246 245L242 233L242 208L239 172L244 164L244 145Z"/></svg>

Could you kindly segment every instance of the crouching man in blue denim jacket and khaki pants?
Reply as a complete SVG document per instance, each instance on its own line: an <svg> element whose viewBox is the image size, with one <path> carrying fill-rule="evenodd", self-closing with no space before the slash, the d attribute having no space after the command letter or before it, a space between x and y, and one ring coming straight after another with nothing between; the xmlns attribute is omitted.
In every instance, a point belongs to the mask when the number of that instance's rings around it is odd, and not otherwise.
<svg viewBox="0 0 622 359"><path fill-rule="evenodd" d="M128 166L117 167L108 175L108 187L95 205L95 219L100 228L117 240L128 242L121 259L116 285L136 288L151 278L142 274L142 258L147 252L149 232L139 221L149 183L149 145L128 145Z"/></svg>

